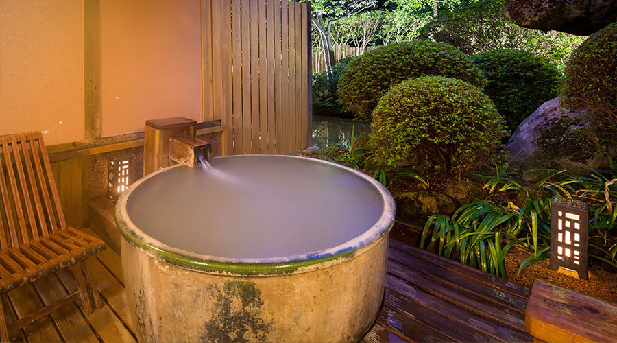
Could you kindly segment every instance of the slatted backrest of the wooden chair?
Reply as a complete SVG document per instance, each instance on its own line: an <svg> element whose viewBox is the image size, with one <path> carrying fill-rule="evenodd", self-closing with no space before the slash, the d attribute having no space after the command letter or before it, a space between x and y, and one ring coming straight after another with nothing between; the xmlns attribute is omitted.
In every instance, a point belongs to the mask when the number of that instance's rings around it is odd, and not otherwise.
<svg viewBox="0 0 617 343"><path fill-rule="evenodd" d="M2 250L66 229L40 132L0 136L0 193Z"/></svg>

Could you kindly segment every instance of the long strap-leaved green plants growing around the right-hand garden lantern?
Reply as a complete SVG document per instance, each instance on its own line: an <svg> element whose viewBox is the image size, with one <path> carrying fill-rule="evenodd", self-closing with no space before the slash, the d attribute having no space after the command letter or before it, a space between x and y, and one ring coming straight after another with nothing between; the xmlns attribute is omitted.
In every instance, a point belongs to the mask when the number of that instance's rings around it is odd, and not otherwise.
<svg viewBox="0 0 617 343"><path fill-rule="evenodd" d="M590 265L617 271L617 168L573 174L545 171L546 178L532 187L546 191L542 200L527 198L522 206L513 201L483 200L458 209L454 215L431 216L422 232L420 246L455 258L485 272L506 277L505 255L516 246L529 253L518 272L531 263L548 259L550 249L550 196L579 198L590 202ZM511 174L487 178L485 188L501 192L523 187ZM500 187L500 188L498 188Z"/></svg>

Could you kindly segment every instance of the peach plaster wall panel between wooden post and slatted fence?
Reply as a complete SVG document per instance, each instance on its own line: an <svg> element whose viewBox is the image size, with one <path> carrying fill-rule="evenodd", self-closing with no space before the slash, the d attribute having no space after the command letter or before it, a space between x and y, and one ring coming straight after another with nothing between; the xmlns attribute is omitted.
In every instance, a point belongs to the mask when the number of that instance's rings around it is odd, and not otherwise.
<svg viewBox="0 0 617 343"><path fill-rule="evenodd" d="M103 137L143 131L146 119L203 120L199 3L99 2Z"/></svg>

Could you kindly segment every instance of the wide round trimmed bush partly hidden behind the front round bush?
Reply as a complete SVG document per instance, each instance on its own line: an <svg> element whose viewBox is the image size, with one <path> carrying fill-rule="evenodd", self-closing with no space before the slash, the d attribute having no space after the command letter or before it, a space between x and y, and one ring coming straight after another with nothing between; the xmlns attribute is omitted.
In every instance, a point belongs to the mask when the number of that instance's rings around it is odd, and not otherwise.
<svg viewBox="0 0 617 343"><path fill-rule="evenodd" d="M367 51L352 60L339 79L339 99L364 119L393 84L424 75L441 75L486 83L469 56L452 45L428 40L394 43Z"/></svg>

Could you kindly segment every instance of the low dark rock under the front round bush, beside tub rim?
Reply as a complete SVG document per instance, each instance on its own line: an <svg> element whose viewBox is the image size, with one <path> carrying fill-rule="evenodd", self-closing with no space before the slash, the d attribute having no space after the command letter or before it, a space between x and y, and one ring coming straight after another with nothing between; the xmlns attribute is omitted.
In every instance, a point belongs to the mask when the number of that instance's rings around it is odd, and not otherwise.
<svg viewBox="0 0 617 343"><path fill-rule="evenodd" d="M455 201L443 193L411 191L394 196L396 217L403 222L424 222L434 214L451 215L456 211Z"/></svg>

